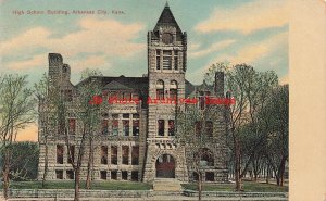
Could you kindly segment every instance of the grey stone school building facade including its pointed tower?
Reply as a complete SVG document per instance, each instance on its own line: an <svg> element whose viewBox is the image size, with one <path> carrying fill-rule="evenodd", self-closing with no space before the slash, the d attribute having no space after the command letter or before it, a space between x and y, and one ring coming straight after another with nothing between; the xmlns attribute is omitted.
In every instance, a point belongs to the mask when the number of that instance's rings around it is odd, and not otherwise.
<svg viewBox="0 0 326 201"><path fill-rule="evenodd" d="M93 141L92 179L152 181L156 177L180 181L193 179L187 165L187 147L175 139L175 104L148 103L149 99L184 99L203 96L205 84L195 86L185 79L187 71L187 34L176 23L165 5L155 27L148 33L148 74L143 77L92 76L76 86L70 81L71 67L59 53L49 53L49 78L67 97L67 124L71 145L78 146L80 121L74 115L78 104L78 89L87 81L97 81L104 100L111 96L140 99L139 103L112 104L102 110L102 131ZM224 75L216 74L215 91L224 97ZM212 95L210 91L210 95ZM46 104L41 109L47 108ZM40 111L45 114L46 111ZM208 181L227 181L225 120L212 120L217 131L208 149L214 153L214 164L206 166ZM45 131L39 126L39 179L45 166L45 143L48 141L49 171L47 179L73 179L64 135L55 127ZM86 143L86 147L89 146ZM77 147L74 149L76 150ZM80 179L86 179L88 149L85 150ZM76 154L76 153L75 153ZM210 177L210 178L209 178Z"/></svg>

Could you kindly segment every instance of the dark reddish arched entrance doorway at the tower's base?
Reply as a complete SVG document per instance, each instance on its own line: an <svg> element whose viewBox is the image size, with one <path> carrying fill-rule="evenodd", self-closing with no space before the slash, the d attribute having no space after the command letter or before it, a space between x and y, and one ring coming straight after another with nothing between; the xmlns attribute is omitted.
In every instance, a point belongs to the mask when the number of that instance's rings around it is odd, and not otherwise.
<svg viewBox="0 0 326 201"><path fill-rule="evenodd" d="M170 154L160 155L155 163L158 178L175 178L175 161Z"/></svg>

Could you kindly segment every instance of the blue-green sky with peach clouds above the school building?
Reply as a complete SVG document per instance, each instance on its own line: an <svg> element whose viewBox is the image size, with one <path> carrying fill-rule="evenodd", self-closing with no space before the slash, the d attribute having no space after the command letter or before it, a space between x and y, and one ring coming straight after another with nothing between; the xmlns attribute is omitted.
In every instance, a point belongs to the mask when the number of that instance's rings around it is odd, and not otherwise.
<svg viewBox="0 0 326 201"><path fill-rule="evenodd" d="M99 68L108 76L147 73L147 32L153 29L164 0L0 0L0 73L29 74L35 81L47 71L49 52L62 53L80 72ZM213 63L248 63L274 70L288 81L288 16L285 0L170 0L180 28L188 34L186 77L200 84ZM23 10L25 14L13 14ZM43 14L27 14L28 10ZM47 10L71 14L47 14ZM105 10L109 14L72 14ZM112 10L124 14L112 14Z"/></svg>

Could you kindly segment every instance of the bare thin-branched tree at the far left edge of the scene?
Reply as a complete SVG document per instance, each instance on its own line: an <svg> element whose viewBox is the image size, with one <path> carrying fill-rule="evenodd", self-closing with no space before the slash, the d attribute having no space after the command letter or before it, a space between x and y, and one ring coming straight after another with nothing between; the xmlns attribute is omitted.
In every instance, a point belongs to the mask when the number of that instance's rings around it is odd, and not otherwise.
<svg viewBox="0 0 326 201"><path fill-rule="evenodd" d="M26 75L4 75L0 87L0 137L3 152L3 196L8 198L12 143L17 131L34 122L35 101L33 90L27 87Z"/></svg>

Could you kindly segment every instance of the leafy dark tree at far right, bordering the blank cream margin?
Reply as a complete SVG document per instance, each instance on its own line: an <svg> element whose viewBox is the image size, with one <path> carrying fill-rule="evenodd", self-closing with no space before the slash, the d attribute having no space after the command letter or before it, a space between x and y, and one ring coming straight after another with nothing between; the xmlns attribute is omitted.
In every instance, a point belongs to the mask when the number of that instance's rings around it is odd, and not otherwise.
<svg viewBox="0 0 326 201"><path fill-rule="evenodd" d="M261 111L261 121L265 125L266 150L264 151L268 166L276 176L276 183L284 185L286 162L289 158L289 88L278 86L268 99L268 106Z"/></svg>

